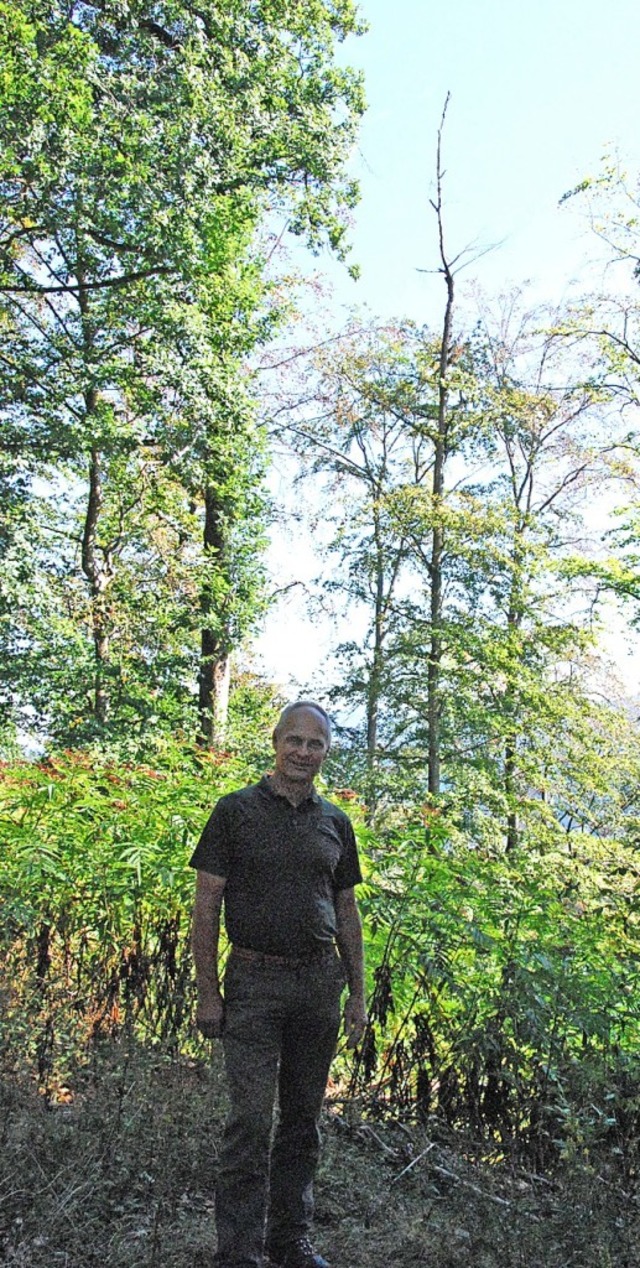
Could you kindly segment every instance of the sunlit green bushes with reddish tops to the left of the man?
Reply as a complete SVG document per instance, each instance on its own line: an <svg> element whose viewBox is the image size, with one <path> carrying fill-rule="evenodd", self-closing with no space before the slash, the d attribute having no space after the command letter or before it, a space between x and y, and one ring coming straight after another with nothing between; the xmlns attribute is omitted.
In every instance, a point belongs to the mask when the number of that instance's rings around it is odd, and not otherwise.
<svg viewBox="0 0 640 1268"><path fill-rule="evenodd" d="M162 768L65 752L0 780L6 1016L46 1087L87 1042L124 1026L180 1044L189 1030L188 861L229 754L169 752Z"/></svg>

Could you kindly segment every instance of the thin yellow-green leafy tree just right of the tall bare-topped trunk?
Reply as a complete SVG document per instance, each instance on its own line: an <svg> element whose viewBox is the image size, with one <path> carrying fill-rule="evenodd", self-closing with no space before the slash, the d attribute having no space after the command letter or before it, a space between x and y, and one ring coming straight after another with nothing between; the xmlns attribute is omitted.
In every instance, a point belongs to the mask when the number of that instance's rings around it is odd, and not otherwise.
<svg viewBox="0 0 640 1268"><path fill-rule="evenodd" d="M483 314L471 345L475 474L459 469L446 497L444 789L466 808L471 834L503 824L507 850L521 832L532 841L551 831L572 796L583 805L568 754L575 744L584 758L589 728L602 754L616 714L606 723L596 704L597 588L575 581L598 549L583 514L608 481L616 437L608 418L605 430L602 393L568 359L551 318L513 299ZM414 502L417 567L421 514L426 536L431 507ZM427 743L419 649L428 629L418 612L404 648L407 735L418 748ZM615 780L611 792L613 804Z"/></svg>

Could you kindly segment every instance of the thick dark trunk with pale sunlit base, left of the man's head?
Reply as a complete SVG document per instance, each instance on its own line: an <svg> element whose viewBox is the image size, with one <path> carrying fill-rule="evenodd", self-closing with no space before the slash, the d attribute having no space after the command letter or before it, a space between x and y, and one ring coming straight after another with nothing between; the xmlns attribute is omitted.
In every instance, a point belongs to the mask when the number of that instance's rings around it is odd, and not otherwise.
<svg viewBox="0 0 640 1268"><path fill-rule="evenodd" d="M212 563L224 558L224 529L217 492L204 489L204 553ZM214 610L212 586L204 582L200 595L200 673L198 681L198 743L212 748L224 742L228 720L231 657L221 638L219 614ZM215 620L214 618L218 618Z"/></svg>

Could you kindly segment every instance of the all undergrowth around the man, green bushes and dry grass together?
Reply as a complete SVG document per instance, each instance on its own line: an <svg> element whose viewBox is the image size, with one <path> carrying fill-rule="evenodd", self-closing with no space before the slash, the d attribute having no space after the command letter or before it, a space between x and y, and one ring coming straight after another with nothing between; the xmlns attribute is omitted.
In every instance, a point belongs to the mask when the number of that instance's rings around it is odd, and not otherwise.
<svg viewBox="0 0 640 1268"><path fill-rule="evenodd" d="M248 777L228 754L0 770L10 1268L209 1268L226 1093L193 1031L188 860ZM433 810L374 832L336 796L366 874L370 1026L333 1070L321 1249L336 1268L635 1268L635 847L504 855Z"/></svg>

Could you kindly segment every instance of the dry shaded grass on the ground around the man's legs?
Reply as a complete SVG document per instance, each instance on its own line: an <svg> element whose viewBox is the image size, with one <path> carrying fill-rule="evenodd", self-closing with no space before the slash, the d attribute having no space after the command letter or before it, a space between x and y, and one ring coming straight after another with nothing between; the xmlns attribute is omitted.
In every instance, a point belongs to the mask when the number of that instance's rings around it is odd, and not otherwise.
<svg viewBox="0 0 640 1268"><path fill-rule="evenodd" d="M122 1040L47 1103L25 1073L0 1097L0 1262L208 1268L224 1117L219 1054ZM608 1168L608 1169L607 1169ZM317 1243L336 1268L635 1268L639 1196L580 1155L554 1177L479 1160L431 1122L326 1115Z"/></svg>

